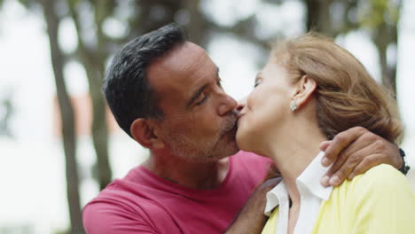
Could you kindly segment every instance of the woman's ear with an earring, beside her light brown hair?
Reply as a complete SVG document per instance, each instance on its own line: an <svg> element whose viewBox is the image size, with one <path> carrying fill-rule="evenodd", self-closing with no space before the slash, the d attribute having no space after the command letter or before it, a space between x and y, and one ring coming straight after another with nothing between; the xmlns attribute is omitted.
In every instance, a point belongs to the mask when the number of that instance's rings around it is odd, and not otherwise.
<svg viewBox="0 0 415 234"><path fill-rule="evenodd" d="M296 93L293 98L298 108L307 104L316 89L317 82L313 78L309 77L308 74L301 76L296 84Z"/></svg>

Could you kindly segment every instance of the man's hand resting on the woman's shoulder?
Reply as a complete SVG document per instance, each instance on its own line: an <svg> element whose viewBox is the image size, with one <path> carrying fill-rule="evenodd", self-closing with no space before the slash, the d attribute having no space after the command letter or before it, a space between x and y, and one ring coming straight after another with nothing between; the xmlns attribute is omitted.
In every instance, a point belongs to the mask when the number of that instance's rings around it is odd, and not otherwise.
<svg viewBox="0 0 415 234"><path fill-rule="evenodd" d="M333 163L321 180L324 186L337 186L346 178L351 180L381 163L395 168L400 168L403 163L395 144L362 127L339 133L332 141L320 144L320 150L325 152L323 166Z"/></svg>

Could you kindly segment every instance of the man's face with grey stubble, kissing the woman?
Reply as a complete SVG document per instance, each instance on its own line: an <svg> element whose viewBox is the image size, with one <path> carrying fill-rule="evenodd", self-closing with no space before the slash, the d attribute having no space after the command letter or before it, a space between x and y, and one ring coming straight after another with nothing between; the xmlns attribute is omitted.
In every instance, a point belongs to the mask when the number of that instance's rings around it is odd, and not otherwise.
<svg viewBox="0 0 415 234"><path fill-rule="evenodd" d="M164 113L158 134L184 160L209 162L238 151L236 101L221 86L218 68L200 46L184 43L149 66L149 82Z"/></svg>

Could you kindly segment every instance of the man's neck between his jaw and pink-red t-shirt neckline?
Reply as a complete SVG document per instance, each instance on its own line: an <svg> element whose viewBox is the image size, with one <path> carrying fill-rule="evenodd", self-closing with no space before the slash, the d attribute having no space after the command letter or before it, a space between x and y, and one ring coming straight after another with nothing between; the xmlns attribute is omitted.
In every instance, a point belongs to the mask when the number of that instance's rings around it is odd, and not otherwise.
<svg viewBox="0 0 415 234"><path fill-rule="evenodd" d="M196 190L217 188L228 173L229 158L215 162L193 163L174 155L152 153L143 166L170 182Z"/></svg>

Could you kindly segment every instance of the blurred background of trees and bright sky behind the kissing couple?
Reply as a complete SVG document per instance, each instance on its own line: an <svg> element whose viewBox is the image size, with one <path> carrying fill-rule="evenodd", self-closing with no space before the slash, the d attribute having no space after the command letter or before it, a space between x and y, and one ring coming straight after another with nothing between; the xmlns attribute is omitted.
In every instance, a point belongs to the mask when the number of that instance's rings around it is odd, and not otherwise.
<svg viewBox="0 0 415 234"><path fill-rule="evenodd" d="M82 207L148 152L121 132L100 86L121 45L175 21L236 99L267 43L314 28L396 95L415 188L413 0L0 0L0 233L82 233Z"/></svg>

